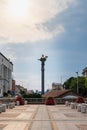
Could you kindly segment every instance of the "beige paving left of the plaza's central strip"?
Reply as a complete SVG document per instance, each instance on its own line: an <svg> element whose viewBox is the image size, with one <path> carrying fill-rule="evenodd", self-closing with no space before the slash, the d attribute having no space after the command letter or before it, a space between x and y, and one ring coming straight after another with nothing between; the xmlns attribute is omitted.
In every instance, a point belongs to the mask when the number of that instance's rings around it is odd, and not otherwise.
<svg viewBox="0 0 87 130"><path fill-rule="evenodd" d="M24 105L6 109L6 112L0 114L0 130L28 130L37 107Z"/></svg>

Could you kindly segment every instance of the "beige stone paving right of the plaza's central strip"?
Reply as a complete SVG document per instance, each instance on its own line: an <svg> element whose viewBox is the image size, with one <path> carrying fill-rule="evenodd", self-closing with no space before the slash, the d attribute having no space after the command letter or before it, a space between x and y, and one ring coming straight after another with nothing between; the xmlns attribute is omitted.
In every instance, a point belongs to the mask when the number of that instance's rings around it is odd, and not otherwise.
<svg viewBox="0 0 87 130"><path fill-rule="evenodd" d="M49 109L58 130L87 130L87 113L77 112L64 105Z"/></svg>

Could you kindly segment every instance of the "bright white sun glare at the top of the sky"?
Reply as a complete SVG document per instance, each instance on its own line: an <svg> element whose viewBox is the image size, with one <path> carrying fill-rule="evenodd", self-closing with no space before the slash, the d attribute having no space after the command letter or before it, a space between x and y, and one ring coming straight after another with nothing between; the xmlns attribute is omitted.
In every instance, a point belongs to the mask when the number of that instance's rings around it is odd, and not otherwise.
<svg viewBox="0 0 87 130"><path fill-rule="evenodd" d="M9 15L12 19L22 20L28 14L28 0L11 0L9 2Z"/></svg>

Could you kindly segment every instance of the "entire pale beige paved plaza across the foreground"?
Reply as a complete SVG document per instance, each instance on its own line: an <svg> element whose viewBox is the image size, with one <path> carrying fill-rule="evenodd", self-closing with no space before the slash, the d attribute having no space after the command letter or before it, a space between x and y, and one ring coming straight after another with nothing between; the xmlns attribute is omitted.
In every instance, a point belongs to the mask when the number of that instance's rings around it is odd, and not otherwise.
<svg viewBox="0 0 87 130"><path fill-rule="evenodd" d="M0 130L87 130L87 113L65 105L23 105L0 113Z"/></svg>

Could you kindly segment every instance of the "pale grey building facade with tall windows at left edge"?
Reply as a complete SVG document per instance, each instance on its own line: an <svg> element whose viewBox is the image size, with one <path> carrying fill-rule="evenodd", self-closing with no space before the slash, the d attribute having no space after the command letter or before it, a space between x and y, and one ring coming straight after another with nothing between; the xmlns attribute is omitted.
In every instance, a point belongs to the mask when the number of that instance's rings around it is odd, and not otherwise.
<svg viewBox="0 0 87 130"><path fill-rule="evenodd" d="M0 53L0 97L12 89L13 64Z"/></svg>

